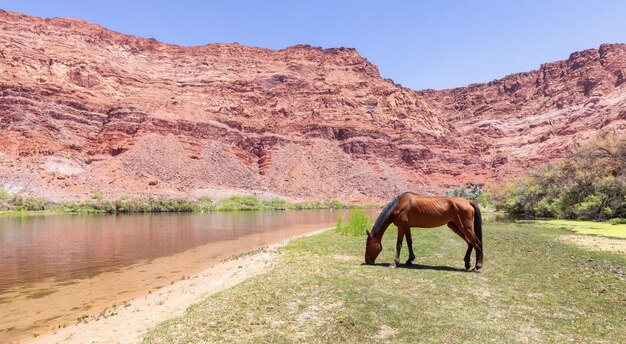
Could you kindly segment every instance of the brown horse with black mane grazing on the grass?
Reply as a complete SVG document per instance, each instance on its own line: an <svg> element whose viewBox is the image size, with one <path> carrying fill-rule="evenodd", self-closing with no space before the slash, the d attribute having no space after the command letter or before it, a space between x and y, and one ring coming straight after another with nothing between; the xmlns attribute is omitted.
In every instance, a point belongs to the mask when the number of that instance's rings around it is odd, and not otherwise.
<svg viewBox="0 0 626 344"><path fill-rule="evenodd" d="M400 264L402 238L406 236L409 246L407 265L413 263L413 239L411 227L433 228L445 224L467 242L465 253L465 269L470 268L472 248L476 250L476 266L478 271L483 265L482 218L478 204L458 197L419 196L406 192L389 203L376 219L372 232L367 231L365 246L365 263L374 264L376 257L383 249L381 239L390 224L398 226L396 241L396 259L390 267Z"/></svg>

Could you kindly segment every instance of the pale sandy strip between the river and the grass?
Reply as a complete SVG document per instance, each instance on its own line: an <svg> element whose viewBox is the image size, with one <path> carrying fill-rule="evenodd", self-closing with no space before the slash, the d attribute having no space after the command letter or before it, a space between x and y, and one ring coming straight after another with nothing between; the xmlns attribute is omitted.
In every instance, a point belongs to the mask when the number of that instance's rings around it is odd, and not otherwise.
<svg viewBox="0 0 626 344"><path fill-rule="evenodd" d="M248 254L218 263L196 275L162 287L128 304L119 305L100 317L72 324L23 343L138 343L159 323L182 315L194 303L250 277L269 271L277 249L288 242L329 230L325 228L281 241Z"/></svg>

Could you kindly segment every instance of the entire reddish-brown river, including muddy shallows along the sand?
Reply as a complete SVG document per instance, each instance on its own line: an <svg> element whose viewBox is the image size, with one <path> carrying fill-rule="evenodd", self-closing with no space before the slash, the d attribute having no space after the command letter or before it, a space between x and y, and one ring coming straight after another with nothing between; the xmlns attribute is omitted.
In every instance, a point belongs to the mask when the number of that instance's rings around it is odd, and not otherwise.
<svg viewBox="0 0 626 344"><path fill-rule="evenodd" d="M338 214L0 217L0 342L73 325L233 255L332 227Z"/></svg>

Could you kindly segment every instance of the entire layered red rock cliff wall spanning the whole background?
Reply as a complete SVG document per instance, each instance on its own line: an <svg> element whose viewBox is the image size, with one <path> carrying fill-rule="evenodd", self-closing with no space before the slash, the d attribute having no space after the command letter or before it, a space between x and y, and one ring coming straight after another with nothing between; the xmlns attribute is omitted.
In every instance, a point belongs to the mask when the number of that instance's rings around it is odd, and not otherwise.
<svg viewBox="0 0 626 344"><path fill-rule="evenodd" d="M626 45L416 92L354 49L180 47L0 12L0 187L383 201L559 159L626 132Z"/></svg>

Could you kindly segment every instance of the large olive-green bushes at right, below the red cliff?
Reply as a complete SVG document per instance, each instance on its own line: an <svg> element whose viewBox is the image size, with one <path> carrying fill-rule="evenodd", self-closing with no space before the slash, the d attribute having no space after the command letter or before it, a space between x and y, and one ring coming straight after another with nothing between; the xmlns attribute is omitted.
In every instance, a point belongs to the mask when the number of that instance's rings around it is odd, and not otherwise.
<svg viewBox="0 0 626 344"><path fill-rule="evenodd" d="M624 222L626 135L588 143L560 163L487 191L496 209L513 215Z"/></svg>

